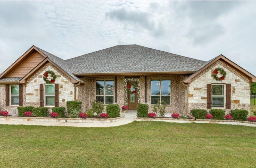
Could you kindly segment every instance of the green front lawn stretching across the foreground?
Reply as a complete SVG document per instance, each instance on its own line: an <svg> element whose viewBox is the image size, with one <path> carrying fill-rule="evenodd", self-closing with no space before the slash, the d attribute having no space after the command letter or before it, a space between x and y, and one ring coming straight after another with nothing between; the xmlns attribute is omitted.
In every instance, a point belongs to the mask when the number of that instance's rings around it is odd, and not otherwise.
<svg viewBox="0 0 256 168"><path fill-rule="evenodd" d="M256 129L136 122L108 128L0 125L0 167L253 167Z"/></svg>

